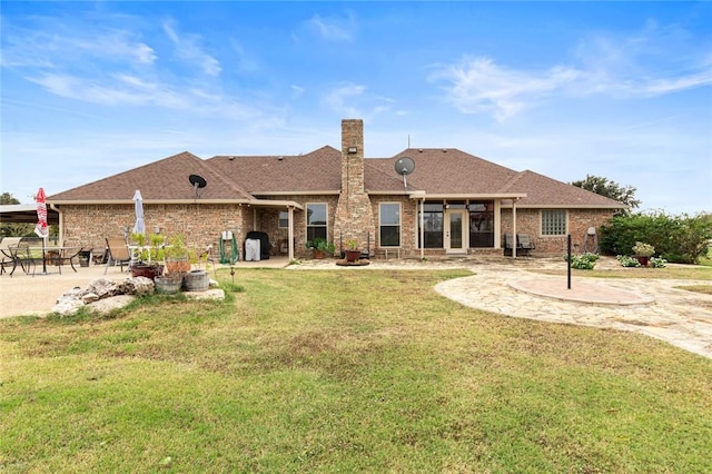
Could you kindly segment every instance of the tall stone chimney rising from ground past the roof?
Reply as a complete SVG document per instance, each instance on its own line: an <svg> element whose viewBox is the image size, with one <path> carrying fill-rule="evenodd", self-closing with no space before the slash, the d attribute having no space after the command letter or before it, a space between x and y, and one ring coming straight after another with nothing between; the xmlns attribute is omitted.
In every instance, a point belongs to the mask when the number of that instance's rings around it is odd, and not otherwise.
<svg viewBox="0 0 712 474"><path fill-rule="evenodd" d="M334 244L346 249L346 241L375 253L376 226L370 199L364 187L364 121L342 120L342 190L334 216ZM343 247L343 248L339 248Z"/></svg>

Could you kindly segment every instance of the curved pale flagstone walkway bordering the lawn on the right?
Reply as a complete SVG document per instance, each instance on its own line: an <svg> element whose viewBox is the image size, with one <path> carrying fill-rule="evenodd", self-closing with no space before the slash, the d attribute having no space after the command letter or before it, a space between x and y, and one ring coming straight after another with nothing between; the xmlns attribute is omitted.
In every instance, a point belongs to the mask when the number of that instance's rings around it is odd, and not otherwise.
<svg viewBox="0 0 712 474"><path fill-rule="evenodd" d="M435 289L477 309L641 333L712 358L712 295L674 288L709 280L574 277L567 289L566 276L515 266L482 265L473 271Z"/></svg>

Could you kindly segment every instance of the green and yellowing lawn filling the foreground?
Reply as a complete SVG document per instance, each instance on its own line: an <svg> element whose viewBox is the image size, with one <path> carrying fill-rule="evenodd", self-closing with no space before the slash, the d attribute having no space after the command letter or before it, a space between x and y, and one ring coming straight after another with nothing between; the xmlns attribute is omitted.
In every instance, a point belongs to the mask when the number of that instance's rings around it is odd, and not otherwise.
<svg viewBox="0 0 712 474"><path fill-rule="evenodd" d="M464 275L239 270L225 303L0 320L0 471L712 471L709 359L434 292Z"/></svg>

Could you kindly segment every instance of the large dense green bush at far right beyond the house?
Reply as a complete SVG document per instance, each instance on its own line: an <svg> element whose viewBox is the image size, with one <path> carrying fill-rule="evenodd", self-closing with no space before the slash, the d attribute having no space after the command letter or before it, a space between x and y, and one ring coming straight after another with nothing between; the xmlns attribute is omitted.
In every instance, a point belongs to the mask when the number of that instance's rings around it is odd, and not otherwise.
<svg viewBox="0 0 712 474"><path fill-rule="evenodd" d="M664 213L614 216L601 228L601 250L631 255L636 241L645 241L668 261L696 264L706 255L712 239L712 219L699 215L668 216Z"/></svg>

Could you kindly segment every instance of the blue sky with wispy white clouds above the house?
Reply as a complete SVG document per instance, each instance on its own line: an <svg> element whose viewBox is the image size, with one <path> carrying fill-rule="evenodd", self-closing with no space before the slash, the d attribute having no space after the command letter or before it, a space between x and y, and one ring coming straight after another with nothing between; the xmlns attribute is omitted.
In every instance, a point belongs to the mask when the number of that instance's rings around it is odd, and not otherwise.
<svg viewBox="0 0 712 474"><path fill-rule="evenodd" d="M0 21L22 203L184 150L340 148L363 118L367 157L458 148L712 211L710 2L2 1Z"/></svg>

